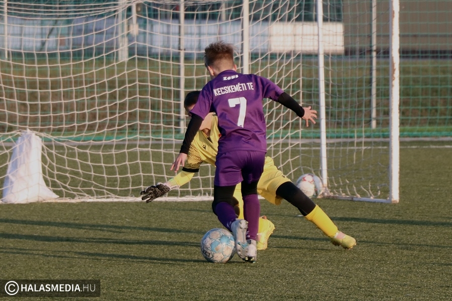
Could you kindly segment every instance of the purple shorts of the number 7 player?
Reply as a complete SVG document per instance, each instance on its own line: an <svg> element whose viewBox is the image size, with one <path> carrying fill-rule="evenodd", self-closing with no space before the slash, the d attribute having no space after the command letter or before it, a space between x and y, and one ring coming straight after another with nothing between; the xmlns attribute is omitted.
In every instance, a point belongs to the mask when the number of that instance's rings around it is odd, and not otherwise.
<svg viewBox="0 0 452 301"><path fill-rule="evenodd" d="M246 183L259 181L264 171L265 154L249 150L217 154L213 184L232 186L242 181Z"/></svg>

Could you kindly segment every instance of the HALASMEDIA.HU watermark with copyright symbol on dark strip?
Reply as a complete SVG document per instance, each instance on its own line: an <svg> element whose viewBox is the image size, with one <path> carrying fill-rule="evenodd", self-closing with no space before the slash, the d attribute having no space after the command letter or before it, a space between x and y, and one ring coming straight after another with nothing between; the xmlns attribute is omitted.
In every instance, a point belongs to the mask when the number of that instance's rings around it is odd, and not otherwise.
<svg viewBox="0 0 452 301"><path fill-rule="evenodd" d="M0 297L98 297L99 279L1 279Z"/></svg>

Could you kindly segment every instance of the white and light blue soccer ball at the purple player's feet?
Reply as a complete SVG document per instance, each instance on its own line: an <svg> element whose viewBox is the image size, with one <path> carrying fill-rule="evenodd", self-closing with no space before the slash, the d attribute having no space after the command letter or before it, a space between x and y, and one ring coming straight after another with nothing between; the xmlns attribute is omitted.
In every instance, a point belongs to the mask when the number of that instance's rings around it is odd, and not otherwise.
<svg viewBox="0 0 452 301"><path fill-rule="evenodd" d="M234 257L236 243L234 236L225 229L214 228L201 239L201 254L213 263L226 263Z"/></svg>

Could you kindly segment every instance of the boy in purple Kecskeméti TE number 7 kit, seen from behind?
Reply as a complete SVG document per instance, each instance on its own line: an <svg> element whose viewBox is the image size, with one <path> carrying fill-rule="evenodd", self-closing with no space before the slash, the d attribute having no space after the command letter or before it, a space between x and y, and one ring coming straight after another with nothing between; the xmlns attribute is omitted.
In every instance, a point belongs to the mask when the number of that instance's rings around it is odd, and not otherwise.
<svg viewBox="0 0 452 301"><path fill-rule="evenodd" d="M269 79L239 74L234 64L234 46L214 42L204 50L204 63L211 80L202 88L198 102L190 111L191 120L179 155L171 166L177 172L187 159L191 142L209 112L218 116L221 137L213 181L212 208L218 220L232 231L236 252L244 261L255 262L260 203L257 183L267 152L266 122L262 100L270 98L290 108L298 116L315 123L316 111L303 109ZM236 219L234 190L242 183L244 219Z"/></svg>

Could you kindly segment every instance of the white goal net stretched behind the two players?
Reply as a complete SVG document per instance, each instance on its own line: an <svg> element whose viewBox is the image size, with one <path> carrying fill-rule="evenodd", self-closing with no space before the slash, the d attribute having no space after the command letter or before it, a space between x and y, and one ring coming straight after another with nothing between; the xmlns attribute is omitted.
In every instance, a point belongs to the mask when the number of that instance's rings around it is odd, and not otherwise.
<svg viewBox="0 0 452 301"><path fill-rule="evenodd" d="M140 200L144 187L174 176L184 95L208 81L205 46L224 40L239 51L239 72L270 78L303 106L320 111L324 83L324 142L319 123L307 128L264 100L268 155L288 178L327 175L331 196L389 198L389 44L378 41L375 64L360 32L371 26L362 18L369 1L324 0L320 35L314 0L0 3L0 189L15 141L30 130L61 199ZM387 26L388 10L376 13ZM213 169L203 165L167 199L210 198Z"/></svg>

